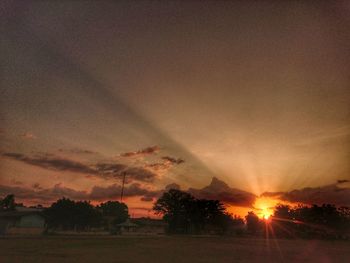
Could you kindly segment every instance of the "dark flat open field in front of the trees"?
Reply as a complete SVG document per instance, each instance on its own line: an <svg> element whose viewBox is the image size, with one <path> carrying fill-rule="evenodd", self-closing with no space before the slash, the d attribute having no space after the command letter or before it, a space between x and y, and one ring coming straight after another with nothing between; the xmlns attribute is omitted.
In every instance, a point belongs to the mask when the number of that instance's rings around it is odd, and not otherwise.
<svg viewBox="0 0 350 263"><path fill-rule="evenodd" d="M3 237L1 263L350 262L350 242L228 237Z"/></svg>

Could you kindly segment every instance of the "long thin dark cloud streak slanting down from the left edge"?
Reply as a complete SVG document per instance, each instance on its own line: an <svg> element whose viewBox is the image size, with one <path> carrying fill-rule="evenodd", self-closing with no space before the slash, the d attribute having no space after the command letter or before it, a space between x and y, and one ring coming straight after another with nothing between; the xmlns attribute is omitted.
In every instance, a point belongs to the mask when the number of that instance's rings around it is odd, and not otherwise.
<svg viewBox="0 0 350 263"><path fill-rule="evenodd" d="M123 173L126 174L128 181L137 180L152 182L157 177L156 173L143 167L132 167L119 163L97 163L87 165L67 158L55 157L51 154L26 156L20 153L3 153L2 156L48 170L83 173L105 179L118 177Z"/></svg>

